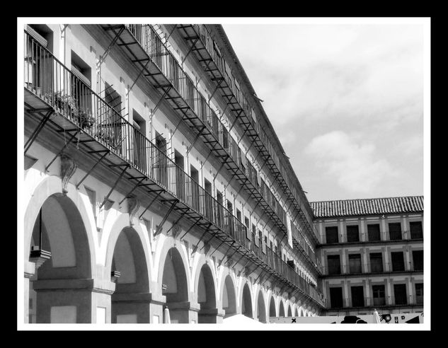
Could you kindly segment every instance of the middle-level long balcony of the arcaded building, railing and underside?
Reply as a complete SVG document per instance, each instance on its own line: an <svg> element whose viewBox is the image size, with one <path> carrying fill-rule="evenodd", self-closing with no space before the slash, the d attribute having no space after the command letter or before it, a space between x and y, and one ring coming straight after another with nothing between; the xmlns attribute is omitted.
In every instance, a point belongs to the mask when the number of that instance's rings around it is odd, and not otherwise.
<svg viewBox="0 0 448 348"><path fill-rule="evenodd" d="M181 119L191 129L195 129L197 137L201 137L211 153L222 161L222 166L243 186L263 214L287 235L285 219L276 208L280 207L280 204L268 203L265 195L260 193L255 169L246 156L241 156L236 141L230 137L229 131L210 108L207 100L197 91L193 81L183 71L154 28L142 24L102 27L113 33L113 36L117 35L118 45L124 47L123 52L144 72L149 83L161 91L162 97L178 112ZM246 166L243 163L246 163ZM316 262L308 255L305 260L313 269L317 268ZM316 270L320 273L320 269Z"/></svg>

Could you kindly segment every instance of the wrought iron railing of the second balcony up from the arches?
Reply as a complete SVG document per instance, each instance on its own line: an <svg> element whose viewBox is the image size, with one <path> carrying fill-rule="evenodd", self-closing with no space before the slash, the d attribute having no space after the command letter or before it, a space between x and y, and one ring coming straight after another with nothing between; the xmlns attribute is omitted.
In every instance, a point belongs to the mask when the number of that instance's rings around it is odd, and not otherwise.
<svg viewBox="0 0 448 348"><path fill-rule="evenodd" d="M148 55L151 62L158 67L161 74L171 83L172 88L177 91L178 95L168 98L182 99L185 105L187 105L178 107L178 109L182 110L179 111L181 116L184 118L185 115L183 113L186 112L185 110L188 110L188 117L185 117L185 120L191 122L193 128L200 129L199 134L202 134L204 129L209 131L211 137L205 137L205 144L212 151L217 151L215 153L217 157L223 161L223 164L227 165L232 175L239 180L249 195L253 197L257 207L260 207L264 214L274 221L275 226L287 235L287 221L284 209L282 209L280 203L273 195L268 195L268 190L260 190L263 186L258 184L255 169L251 166L250 161L248 161L246 156L241 156L241 150L236 141L230 136L229 130L219 120L219 117L209 106L205 97L194 86L193 81L178 64L176 58L168 50L154 28L151 25L143 24L127 24L125 28L125 31L119 33L123 33L122 35L126 36L127 41L130 38L136 40L136 43L138 42L140 47L142 47L142 50ZM127 31L130 33L129 35ZM127 45L125 43L121 45L125 47L131 46L130 42L127 42ZM132 52L138 49L132 46L125 50ZM133 52L133 56L137 57L138 55L139 53ZM144 60L137 59L136 64L143 64ZM154 82L156 86L159 85L159 82L151 79L151 77L149 80ZM222 151L219 152L219 150ZM245 160L242 161L242 158L245 158ZM233 166L230 162L233 163ZM246 166L243 163L246 163ZM316 262L317 259L314 253L311 250L306 250L304 244L294 243L294 246L301 252L306 262L320 274L321 267Z"/></svg>

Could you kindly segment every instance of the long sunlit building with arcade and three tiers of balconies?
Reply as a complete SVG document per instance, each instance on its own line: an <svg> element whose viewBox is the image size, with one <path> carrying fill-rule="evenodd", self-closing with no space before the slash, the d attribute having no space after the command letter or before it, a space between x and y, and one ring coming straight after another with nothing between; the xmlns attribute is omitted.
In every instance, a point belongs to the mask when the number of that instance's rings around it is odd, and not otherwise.
<svg viewBox="0 0 448 348"><path fill-rule="evenodd" d="M25 323L321 315L313 212L221 25L25 25Z"/></svg>

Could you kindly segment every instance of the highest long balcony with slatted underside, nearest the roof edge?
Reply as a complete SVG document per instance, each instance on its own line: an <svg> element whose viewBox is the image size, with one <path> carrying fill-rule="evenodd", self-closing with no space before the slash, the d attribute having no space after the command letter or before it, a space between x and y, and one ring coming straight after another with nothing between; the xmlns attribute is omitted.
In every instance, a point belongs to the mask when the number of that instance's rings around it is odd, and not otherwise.
<svg viewBox="0 0 448 348"><path fill-rule="evenodd" d="M222 61L219 61L216 57L213 57L214 53L212 53L211 44L209 43L209 48L206 47L205 41L207 40L207 35L208 37L210 35L207 33L205 25L179 24L176 25L176 28L178 28L180 34L190 45L190 50L194 52L197 60L202 65L202 68L209 75L210 80L216 83L219 93L222 95L222 98L226 100L227 107L230 105L230 110L236 120L238 120L241 124L244 133L248 135L249 139L251 139L253 146L257 149L258 153L260 153L263 163L268 166L272 172L273 178L277 180L280 187L282 187L282 190L285 192L287 202L292 202L292 206L298 212L299 220L306 227L306 230L309 232L309 236L316 244L318 244L319 240L316 236L314 228L311 224L309 224L309 219L311 218L308 216L307 219L307 216L304 213L304 207L297 202L292 191L289 189L285 178L283 178L282 173L277 168L274 158L272 158L270 152L260 138L259 130L257 129L258 124L255 124L255 122L251 120L251 116L249 116L250 112L247 110L247 106L246 108L241 106L241 104L245 104L245 100L243 100L243 97L238 98L235 95L233 88L231 88L229 76L227 76L224 72L225 68L222 66Z"/></svg>

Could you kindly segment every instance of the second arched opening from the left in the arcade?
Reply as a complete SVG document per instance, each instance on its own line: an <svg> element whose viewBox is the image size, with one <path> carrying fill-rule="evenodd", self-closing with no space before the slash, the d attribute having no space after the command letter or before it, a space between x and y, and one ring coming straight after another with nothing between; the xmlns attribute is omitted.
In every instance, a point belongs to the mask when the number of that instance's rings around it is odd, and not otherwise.
<svg viewBox="0 0 448 348"><path fill-rule="evenodd" d="M112 323L150 323L149 277L142 241L137 231L126 227L113 250L111 274L119 272L112 295Z"/></svg>

